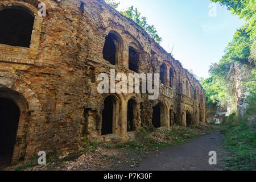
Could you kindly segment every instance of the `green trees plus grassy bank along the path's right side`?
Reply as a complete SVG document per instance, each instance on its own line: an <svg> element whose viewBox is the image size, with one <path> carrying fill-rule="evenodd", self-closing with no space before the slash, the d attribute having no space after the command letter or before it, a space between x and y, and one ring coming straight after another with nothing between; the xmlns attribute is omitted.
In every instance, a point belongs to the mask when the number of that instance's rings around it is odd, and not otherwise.
<svg viewBox="0 0 256 182"><path fill-rule="evenodd" d="M226 129L223 146L230 152L231 158L225 159L226 169L255 170L255 113L256 113L256 40L255 0L211 0L226 6L233 14L246 20L245 25L236 31L232 42L225 49L225 55L219 63L210 66L211 77L201 81L206 91L208 106L233 106L233 114L224 118ZM243 73L251 72L243 79L247 103L245 114L237 116L236 108L236 68ZM241 104L241 103L240 103Z"/></svg>

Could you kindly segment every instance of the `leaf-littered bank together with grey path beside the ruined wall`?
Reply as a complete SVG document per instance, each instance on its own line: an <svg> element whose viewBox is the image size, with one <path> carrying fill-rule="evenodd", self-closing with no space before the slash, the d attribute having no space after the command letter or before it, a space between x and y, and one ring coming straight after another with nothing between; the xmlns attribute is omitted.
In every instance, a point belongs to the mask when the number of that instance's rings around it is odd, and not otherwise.
<svg viewBox="0 0 256 182"><path fill-rule="evenodd" d="M215 130L213 130L215 129ZM101 170L222 170L225 152L221 148L222 135L213 126L175 126L142 132L135 142L98 144L84 142L72 154L47 156L47 164L37 166L37 158L5 170L28 171L101 171ZM170 147L171 146L171 147ZM210 151L217 152L217 165L210 166Z"/></svg>

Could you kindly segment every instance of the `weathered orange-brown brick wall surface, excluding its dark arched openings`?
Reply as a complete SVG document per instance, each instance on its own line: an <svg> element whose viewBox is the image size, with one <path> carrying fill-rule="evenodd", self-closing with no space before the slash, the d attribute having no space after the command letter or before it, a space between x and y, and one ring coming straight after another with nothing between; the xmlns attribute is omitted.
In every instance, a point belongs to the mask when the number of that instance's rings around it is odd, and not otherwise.
<svg viewBox="0 0 256 182"><path fill-rule="evenodd" d="M39 2L46 3L46 17L37 14ZM27 7L35 15L30 48L0 44L0 96L15 102L22 98L27 102L22 125L19 124L18 132L22 137L15 147L14 161L28 159L39 150L76 150L84 135L109 140L101 137L102 110L109 94L97 92L97 76L100 73L110 75L110 69L134 73L129 71L130 44L139 52L139 72L159 73L164 63L167 71L174 69L175 76L172 88L168 84L160 86L156 101L147 100L143 94L115 94L119 110L115 111L118 118L114 135L127 140L127 102L131 97L137 103L137 130L141 126L152 129L152 107L158 102L165 108L163 123L166 127L170 127L170 109L175 113L173 122L176 124L185 125L181 115L187 110L193 123L199 123L196 120L200 118L205 121L205 91L199 82L141 27L103 1L0 0L0 10L10 5ZM117 65L110 64L102 55L105 37L110 31L116 32L122 40ZM191 86L190 97L184 96L184 80ZM13 97L6 88L20 97ZM194 100L196 88L199 97Z"/></svg>

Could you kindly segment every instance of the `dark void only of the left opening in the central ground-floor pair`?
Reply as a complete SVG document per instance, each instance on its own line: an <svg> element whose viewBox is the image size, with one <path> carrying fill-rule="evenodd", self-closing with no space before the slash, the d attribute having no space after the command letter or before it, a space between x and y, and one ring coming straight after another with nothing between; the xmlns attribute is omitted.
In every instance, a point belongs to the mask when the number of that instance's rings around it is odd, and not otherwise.
<svg viewBox="0 0 256 182"><path fill-rule="evenodd" d="M104 110L102 112L101 135L113 133L113 101L107 97L104 101Z"/></svg>

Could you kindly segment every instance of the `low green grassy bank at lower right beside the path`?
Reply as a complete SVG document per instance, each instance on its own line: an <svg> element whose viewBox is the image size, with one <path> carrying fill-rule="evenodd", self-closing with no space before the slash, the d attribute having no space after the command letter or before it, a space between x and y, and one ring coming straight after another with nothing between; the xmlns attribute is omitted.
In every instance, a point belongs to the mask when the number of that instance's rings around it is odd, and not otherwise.
<svg viewBox="0 0 256 182"><path fill-rule="evenodd" d="M225 136L223 146L232 156L224 159L226 169L255 170L256 128L254 123L246 122L233 113L228 117L228 122L222 126L226 127L221 131Z"/></svg>

